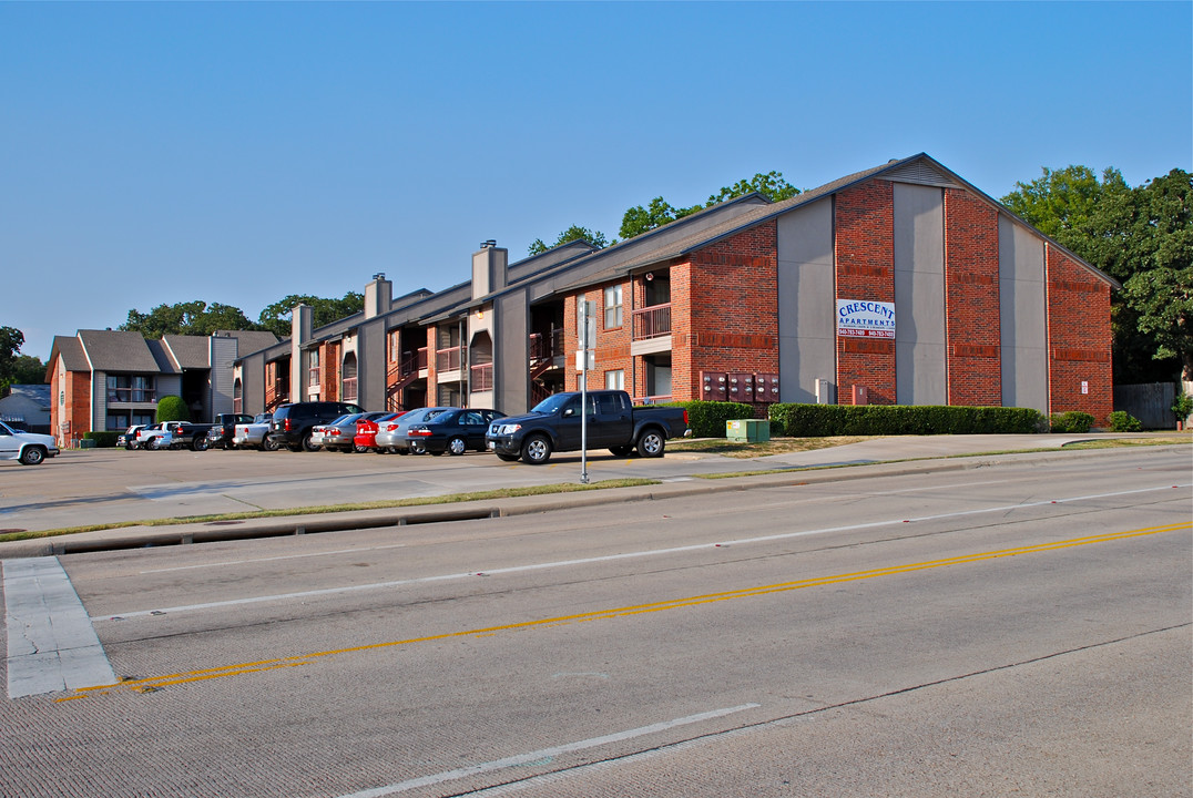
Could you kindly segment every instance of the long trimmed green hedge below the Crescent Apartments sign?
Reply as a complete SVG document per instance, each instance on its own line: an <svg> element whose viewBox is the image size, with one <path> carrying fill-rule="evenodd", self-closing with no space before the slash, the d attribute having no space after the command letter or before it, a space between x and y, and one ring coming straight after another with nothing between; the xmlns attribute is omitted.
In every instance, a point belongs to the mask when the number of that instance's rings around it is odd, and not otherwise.
<svg viewBox="0 0 1193 798"><path fill-rule="evenodd" d="M1046 432L1039 410L1016 407L772 404L771 420L793 438L828 435L964 435Z"/></svg>

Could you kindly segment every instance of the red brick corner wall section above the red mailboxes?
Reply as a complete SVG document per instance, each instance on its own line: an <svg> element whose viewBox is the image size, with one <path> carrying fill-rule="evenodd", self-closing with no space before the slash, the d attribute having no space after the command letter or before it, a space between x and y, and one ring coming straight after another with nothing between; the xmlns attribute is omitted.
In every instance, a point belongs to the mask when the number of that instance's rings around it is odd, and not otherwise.
<svg viewBox="0 0 1193 798"><path fill-rule="evenodd" d="M686 266L672 270L675 401L700 398L701 371L778 373L777 223L699 249Z"/></svg>

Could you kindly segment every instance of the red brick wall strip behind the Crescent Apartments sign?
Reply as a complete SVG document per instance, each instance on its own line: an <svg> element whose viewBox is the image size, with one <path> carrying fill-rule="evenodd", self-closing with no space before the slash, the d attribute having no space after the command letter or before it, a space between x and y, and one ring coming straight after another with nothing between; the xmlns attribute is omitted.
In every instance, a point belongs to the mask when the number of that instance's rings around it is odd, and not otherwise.
<svg viewBox="0 0 1193 798"><path fill-rule="evenodd" d="M836 297L895 302L894 187L870 180L836 194L834 205ZM864 385L871 404L895 403L895 341L836 339L837 401L852 402Z"/></svg>

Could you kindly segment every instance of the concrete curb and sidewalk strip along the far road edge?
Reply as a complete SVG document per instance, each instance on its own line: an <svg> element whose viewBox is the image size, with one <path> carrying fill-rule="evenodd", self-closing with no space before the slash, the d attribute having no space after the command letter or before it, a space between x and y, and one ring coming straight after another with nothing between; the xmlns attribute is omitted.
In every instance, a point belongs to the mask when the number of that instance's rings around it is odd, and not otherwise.
<svg viewBox="0 0 1193 798"><path fill-rule="evenodd" d="M709 454L669 454L686 465L684 476L653 485L608 488L488 501L470 501L342 513L223 520L171 526L124 526L97 532L0 543L0 558L178 545L214 540L313 534L336 530L433 524L464 519L545 513L610 502L651 501L728 490L842 482L874 476L934 474L985 468L995 463L1047 463L1057 458L1098 457L1106 451L1059 451L1077 440L1148 438L1144 434L1087 435L939 435L882 438L812 452L792 452L749 459ZM1014 450L1047 450L1015 453ZM1009 452L983 454L983 452ZM851 468L833 468L848 465ZM806 470L812 469L812 470ZM773 470L754 476L698 478Z"/></svg>

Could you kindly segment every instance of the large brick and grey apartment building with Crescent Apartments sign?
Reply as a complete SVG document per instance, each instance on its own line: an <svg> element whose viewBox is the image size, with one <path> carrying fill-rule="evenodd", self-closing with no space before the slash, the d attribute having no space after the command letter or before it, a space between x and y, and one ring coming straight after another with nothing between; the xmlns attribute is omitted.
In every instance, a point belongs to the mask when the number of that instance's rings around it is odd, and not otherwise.
<svg viewBox="0 0 1193 798"><path fill-rule="evenodd" d="M870 402L1112 410L1120 287L927 155L795 198L750 194L605 249L509 264L392 297L237 359L235 408L345 400L519 413L577 386L577 303L598 323L591 386L637 401Z"/></svg>

